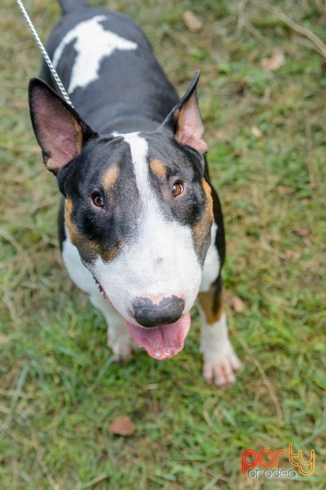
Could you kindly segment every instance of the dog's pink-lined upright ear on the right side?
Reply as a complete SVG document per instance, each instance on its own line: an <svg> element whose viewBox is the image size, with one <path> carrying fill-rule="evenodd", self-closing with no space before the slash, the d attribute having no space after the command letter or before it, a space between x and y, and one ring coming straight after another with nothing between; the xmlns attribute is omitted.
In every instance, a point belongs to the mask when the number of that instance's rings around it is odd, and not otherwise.
<svg viewBox="0 0 326 490"><path fill-rule="evenodd" d="M162 129L173 131L175 139L205 154L207 144L204 138L204 125L199 111L197 84L200 70L197 70L192 83L182 99L170 112L162 124Z"/></svg>

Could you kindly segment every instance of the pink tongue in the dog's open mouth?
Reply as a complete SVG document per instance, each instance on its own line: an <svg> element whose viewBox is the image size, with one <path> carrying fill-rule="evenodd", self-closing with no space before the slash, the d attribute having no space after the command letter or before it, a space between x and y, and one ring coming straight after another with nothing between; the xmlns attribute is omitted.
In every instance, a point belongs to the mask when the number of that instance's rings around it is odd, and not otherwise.
<svg viewBox="0 0 326 490"><path fill-rule="evenodd" d="M151 357L160 360L170 359L183 349L191 319L188 313L177 322L161 327L138 327L127 321L126 324L133 340L144 347Z"/></svg>

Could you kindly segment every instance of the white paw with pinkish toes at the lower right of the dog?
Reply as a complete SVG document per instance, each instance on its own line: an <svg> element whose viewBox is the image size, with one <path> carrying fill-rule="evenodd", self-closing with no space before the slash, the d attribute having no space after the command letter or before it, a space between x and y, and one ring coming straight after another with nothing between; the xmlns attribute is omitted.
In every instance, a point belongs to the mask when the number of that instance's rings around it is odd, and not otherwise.
<svg viewBox="0 0 326 490"><path fill-rule="evenodd" d="M221 356L205 356L203 376L209 383L214 382L220 388L227 388L235 381L235 373L240 371L241 362L236 356L232 346L227 353Z"/></svg>

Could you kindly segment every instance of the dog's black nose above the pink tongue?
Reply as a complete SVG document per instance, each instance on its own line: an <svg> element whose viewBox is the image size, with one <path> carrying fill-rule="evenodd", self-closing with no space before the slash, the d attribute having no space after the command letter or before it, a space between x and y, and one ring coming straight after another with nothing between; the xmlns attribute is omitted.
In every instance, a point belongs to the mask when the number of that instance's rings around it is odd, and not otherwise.
<svg viewBox="0 0 326 490"><path fill-rule="evenodd" d="M140 297L134 298L131 303L135 320L143 327L149 328L176 322L184 308L184 300L175 295L163 298L158 304L149 298Z"/></svg>

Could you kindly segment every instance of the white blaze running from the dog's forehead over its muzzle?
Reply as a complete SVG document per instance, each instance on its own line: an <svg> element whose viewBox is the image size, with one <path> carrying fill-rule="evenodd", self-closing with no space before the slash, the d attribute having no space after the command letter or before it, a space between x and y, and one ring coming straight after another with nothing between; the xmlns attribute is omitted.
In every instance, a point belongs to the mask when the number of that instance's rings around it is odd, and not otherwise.
<svg viewBox="0 0 326 490"><path fill-rule="evenodd" d="M130 322L131 299L176 295L187 313L201 281L192 229L168 220L152 191L148 174L148 144L138 133L123 135L130 145L135 180L140 194L137 234L109 262L98 257L90 267L115 308Z"/></svg>

